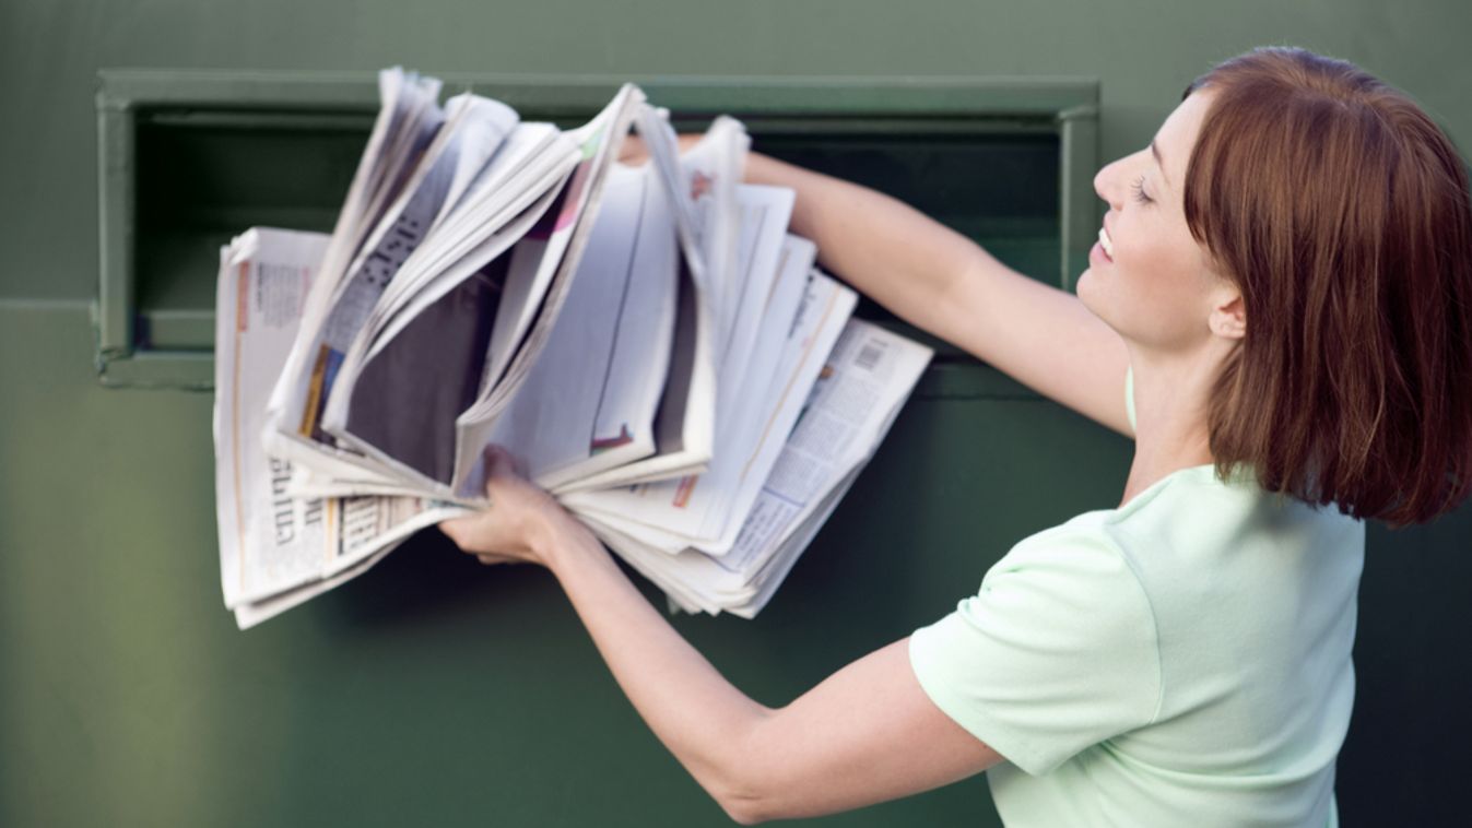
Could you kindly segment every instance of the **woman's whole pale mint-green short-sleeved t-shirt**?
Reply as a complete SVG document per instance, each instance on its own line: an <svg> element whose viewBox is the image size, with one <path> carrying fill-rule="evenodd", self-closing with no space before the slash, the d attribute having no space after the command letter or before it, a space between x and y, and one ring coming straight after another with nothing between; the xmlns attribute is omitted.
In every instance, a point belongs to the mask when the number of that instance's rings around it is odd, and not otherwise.
<svg viewBox="0 0 1472 828"><path fill-rule="evenodd" d="M1181 469L1014 546L910 662L1007 759L1010 828L1337 825L1363 559L1334 507Z"/></svg>

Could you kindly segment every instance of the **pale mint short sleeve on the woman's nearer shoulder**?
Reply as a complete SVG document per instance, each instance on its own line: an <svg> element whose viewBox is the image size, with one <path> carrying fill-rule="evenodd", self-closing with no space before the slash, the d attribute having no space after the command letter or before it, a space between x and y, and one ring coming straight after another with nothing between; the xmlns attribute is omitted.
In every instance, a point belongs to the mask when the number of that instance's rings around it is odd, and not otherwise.
<svg viewBox="0 0 1472 828"><path fill-rule="evenodd" d="M1017 544L976 596L910 637L910 663L942 712L1035 775L1160 707L1150 602L1098 529Z"/></svg>

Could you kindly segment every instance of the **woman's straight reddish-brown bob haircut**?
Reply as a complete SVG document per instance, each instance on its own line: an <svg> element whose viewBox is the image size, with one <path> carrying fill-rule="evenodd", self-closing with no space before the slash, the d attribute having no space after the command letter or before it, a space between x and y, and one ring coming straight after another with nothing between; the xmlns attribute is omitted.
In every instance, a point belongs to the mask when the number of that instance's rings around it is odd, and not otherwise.
<svg viewBox="0 0 1472 828"><path fill-rule="evenodd" d="M1217 474L1356 518L1429 521L1472 487L1472 200L1404 94L1301 49L1234 57L1185 216L1242 291L1209 412Z"/></svg>

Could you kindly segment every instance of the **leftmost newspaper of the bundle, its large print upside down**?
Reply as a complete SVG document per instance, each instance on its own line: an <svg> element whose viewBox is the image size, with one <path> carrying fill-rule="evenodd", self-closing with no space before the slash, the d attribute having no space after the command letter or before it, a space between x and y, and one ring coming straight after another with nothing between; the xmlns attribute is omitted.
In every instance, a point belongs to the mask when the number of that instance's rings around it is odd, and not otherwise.
<svg viewBox="0 0 1472 828"><path fill-rule="evenodd" d="M291 463L266 456L266 397L327 243L322 234L256 228L221 250L215 484L231 609L353 571L418 528L465 513L418 497L291 497Z"/></svg>

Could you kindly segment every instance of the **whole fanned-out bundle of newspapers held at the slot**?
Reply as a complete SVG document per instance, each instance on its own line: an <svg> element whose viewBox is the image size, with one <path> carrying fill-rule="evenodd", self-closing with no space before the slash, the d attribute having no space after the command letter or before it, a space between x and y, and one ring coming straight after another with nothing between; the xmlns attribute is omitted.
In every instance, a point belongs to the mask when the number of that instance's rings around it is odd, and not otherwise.
<svg viewBox="0 0 1472 828"><path fill-rule="evenodd" d="M380 93L331 235L221 250L225 606L250 627L493 509L495 444L674 607L754 616L930 350L851 318L735 119L682 153L634 85L571 131L399 69Z"/></svg>

